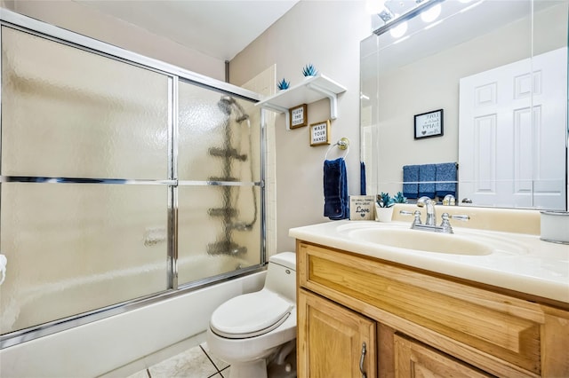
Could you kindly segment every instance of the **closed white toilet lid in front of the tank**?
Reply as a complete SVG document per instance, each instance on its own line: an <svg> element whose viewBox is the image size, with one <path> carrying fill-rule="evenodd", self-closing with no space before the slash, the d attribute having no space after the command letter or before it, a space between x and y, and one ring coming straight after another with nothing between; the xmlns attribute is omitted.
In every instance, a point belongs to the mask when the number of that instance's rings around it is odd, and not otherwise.
<svg viewBox="0 0 569 378"><path fill-rule="evenodd" d="M238 295L213 311L210 327L220 336L243 339L266 334L280 326L293 310L293 303L260 290Z"/></svg>

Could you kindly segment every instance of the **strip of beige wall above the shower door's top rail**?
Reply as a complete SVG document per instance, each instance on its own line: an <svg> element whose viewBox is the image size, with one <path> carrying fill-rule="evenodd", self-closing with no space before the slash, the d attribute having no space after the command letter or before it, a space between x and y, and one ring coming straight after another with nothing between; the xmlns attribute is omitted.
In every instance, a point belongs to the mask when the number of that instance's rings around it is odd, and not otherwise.
<svg viewBox="0 0 569 378"><path fill-rule="evenodd" d="M197 74L225 80L225 62L188 49L123 20L71 0L0 0L4 8L49 24L162 60Z"/></svg>

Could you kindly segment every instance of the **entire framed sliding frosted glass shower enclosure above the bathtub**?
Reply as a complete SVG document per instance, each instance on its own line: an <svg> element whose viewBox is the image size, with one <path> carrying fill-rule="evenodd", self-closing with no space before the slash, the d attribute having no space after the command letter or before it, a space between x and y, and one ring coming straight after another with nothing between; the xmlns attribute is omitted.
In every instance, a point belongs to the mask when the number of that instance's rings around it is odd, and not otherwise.
<svg viewBox="0 0 569 378"><path fill-rule="evenodd" d="M0 348L260 269L255 93L2 16Z"/></svg>

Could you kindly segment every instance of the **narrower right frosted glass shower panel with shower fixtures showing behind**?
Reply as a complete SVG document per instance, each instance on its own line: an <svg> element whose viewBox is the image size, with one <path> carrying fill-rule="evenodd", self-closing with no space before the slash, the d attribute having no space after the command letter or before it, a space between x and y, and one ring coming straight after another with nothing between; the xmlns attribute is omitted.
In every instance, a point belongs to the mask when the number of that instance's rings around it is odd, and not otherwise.
<svg viewBox="0 0 569 378"><path fill-rule="evenodd" d="M179 83L178 282L261 263L260 110Z"/></svg>

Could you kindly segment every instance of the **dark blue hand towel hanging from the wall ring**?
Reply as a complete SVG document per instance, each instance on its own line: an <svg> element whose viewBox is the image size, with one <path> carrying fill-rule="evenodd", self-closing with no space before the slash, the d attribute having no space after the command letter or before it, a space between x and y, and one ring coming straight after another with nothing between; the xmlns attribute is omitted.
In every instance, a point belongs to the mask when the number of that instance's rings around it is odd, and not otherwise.
<svg viewBox="0 0 569 378"><path fill-rule="evenodd" d="M324 216L349 218L348 176L343 158L324 161Z"/></svg>

